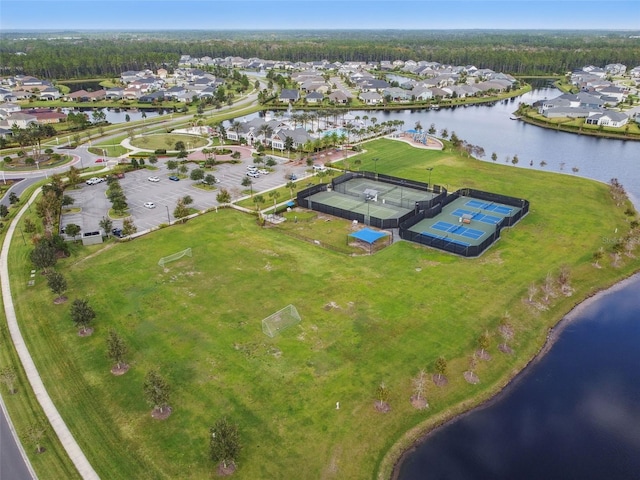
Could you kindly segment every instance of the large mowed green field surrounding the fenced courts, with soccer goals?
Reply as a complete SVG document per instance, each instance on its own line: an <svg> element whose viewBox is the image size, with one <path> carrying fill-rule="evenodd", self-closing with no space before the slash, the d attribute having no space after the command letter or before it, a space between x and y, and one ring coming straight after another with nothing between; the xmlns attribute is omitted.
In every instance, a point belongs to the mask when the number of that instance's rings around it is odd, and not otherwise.
<svg viewBox="0 0 640 480"><path fill-rule="evenodd" d="M426 180L425 168L433 167L434 183L526 198L531 212L477 259L407 242L349 257L261 229L233 210L131 242L77 248L57 269L70 300L87 298L98 314L89 338L77 336L69 303L53 305L43 279L25 286L28 247L14 242L9 265L23 334L102 478L211 478L208 427L221 416L239 424L244 445L234 478L384 476L394 458L385 455L407 441L407 431L495 393L575 303L640 264L624 257L613 268L606 257L602 269L591 265L606 239L628 230L605 185L401 142L366 149L362 169L377 157L379 172ZM192 258L168 271L157 266L187 247ZM561 265L571 269L574 295L558 295L545 311L527 306L528 286ZM302 322L265 336L262 318L290 303ZM516 332L513 356L496 348L506 311ZM109 328L131 350L132 368L122 377L109 373ZM493 360L478 367L482 381L472 386L462 372L485 330ZM430 408L417 411L411 378L423 368L433 372L440 355L449 361L450 383L429 384ZM173 390L174 411L164 422L150 417L142 395L153 367ZM387 414L373 408L381 382L391 392Z"/></svg>

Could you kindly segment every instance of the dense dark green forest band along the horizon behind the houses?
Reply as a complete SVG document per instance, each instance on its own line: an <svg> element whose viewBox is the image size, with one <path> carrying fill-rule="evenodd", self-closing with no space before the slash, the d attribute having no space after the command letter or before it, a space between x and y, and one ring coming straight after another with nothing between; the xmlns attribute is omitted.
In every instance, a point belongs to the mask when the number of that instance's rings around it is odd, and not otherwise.
<svg viewBox="0 0 640 480"><path fill-rule="evenodd" d="M22 34L24 35L24 34ZM22 53L22 54L17 54ZM561 74L593 64L640 63L640 38L625 32L552 31L260 31L82 34L79 40L0 40L3 75L51 79L117 77L169 68L181 55L268 60L427 60L516 75Z"/></svg>

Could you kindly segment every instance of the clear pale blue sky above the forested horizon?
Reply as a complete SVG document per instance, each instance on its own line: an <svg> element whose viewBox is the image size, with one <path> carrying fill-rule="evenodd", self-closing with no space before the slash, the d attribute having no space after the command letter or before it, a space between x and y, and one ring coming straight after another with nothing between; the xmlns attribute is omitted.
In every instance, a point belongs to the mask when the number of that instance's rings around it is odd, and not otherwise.
<svg viewBox="0 0 640 480"><path fill-rule="evenodd" d="M0 30L640 30L640 0L0 0Z"/></svg>

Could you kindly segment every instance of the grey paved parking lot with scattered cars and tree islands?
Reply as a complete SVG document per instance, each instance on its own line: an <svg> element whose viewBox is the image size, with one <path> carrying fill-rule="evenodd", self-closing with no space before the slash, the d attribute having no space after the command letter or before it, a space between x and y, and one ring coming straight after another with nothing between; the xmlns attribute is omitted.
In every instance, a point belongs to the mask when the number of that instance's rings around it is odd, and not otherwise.
<svg viewBox="0 0 640 480"><path fill-rule="evenodd" d="M191 207L197 210L206 210L219 205L216 200L221 189L226 189L232 197L237 200L244 196L248 187L242 186L242 181L247 178L247 166L253 165L251 158L246 158L238 164L216 165L213 170L205 170L212 173L218 183L215 190L203 190L197 188L193 180L181 179L180 181L169 180L173 172L167 170L164 162L158 163L158 169L142 169L129 172L125 178L120 180L120 185L127 197L129 213L138 231L157 227L162 223L175 220L173 211L178 200L186 195L193 199ZM190 170L196 168L189 164ZM259 168L264 168L260 166ZM293 165L286 159L280 159L278 165L272 167L273 170L268 175L260 175L258 178L251 178L254 193L269 190L283 185L287 182L286 176L295 174L298 179L310 175L308 167L305 165ZM188 174L187 174L188 175ZM151 182L149 177L156 176L157 182ZM75 199L74 208L79 208L78 213L68 213L62 215L60 226L73 223L80 226L81 231L92 232L100 229L100 221L108 215L111 202L106 197L107 183L102 182L95 185L83 183L75 190L67 190L65 193ZM154 208L146 208L145 203L152 202ZM122 219L112 219L114 228L122 227Z"/></svg>

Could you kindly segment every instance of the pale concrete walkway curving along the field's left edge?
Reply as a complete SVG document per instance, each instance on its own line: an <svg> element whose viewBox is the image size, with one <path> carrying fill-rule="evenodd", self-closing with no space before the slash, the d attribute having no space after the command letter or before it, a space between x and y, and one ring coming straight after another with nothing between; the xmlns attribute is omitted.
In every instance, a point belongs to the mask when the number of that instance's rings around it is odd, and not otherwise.
<svg viewBox="0 0 640 480"><path fill-rule="evenodd" d="M16 318L15 308L13 306L13 298L11 297L11 285L9 284L9 268L7 264L7 259L9 257L9 246L11 245L11 239L13 238L13 234L15 233L16 226L24 212L27 210L27 207L37 198L40 194L41 189L38 189L31 196L27 204L22 207L22 210L16 215L11 224L9 225L9 229L7 231L7 235L4 239L4 243L2 245L2 251L0 252L0 283L2 284L2 299L4 301L4 311L7 316L7 324L9 326L9 333L11 334L11 339L13 340L13 344L16 347L16 351L18 352L18 356L20 357L20 361L22 362L22 366L27 375L27 379L31 384L31 388L42 407L49 423L53 427L56 435L60 439L60 443L66 450L69 458L78 469L78 472L85 479L99 479L100 477L93 469L87 457L84 456L84 453L80 449L80 446L76 443L76 440L73 438L73 435L69 431L69 428L64 423L64 420L58 413L56 406L53 404L51 397L44 387L42 383L42 379L38 374L38 370L36 369L36 365L29 354L29 350L27 349L27 345L22 338L22 333L20 332L20 327L18 326L18 319Z"/></svg>

